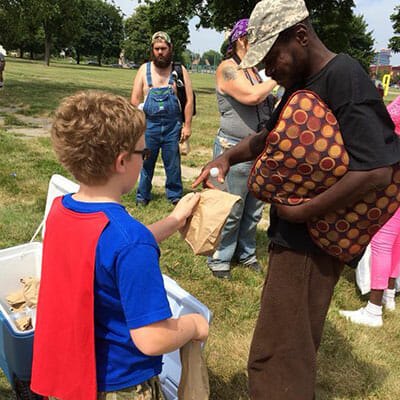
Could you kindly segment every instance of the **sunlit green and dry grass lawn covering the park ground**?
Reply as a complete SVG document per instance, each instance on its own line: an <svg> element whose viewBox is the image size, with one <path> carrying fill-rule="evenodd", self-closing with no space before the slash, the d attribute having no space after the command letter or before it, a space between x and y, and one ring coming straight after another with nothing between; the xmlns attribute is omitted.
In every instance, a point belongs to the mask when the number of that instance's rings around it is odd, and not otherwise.
<svg viewBox="0 0 400 400"><path fill-rule="evenodd" d="M60 99L77 91L102 89L130 96L135 71L91 66L42 63L8 58L5 86L0 90L0 248L26 243L39 225L50 176L70 175L57 163L47 137L24 137L13 131L23 125L17 116L51 116ZM201 167L218 128L214 76L193 74L198 115L193 123L192 153L187 166ZM390 94L395 97L396 94ZM3 110L3 111L2 111ZM6 114L6 118L4 118ZM188 185L185 191L189 191ZM135 192L124 198L129 212L145 224L172 210L161 188L145 209L134 206ZM257 251L267 266L266 232L257 232ZM259 309L263 278L233 268L233 279L211 276L204 257L193 256L176 234L161 244L161 268L214 313L205 348L211 399L247 399L246 362ZM395 400L400 398L400 311L384 315L384 328L351 325L338 315L340 308L365 303L346 268L336 287L319 352L318 400ZM400 309L400 306L399 306ZM0 399L11 399L10 385L0 373Z"/></svg>

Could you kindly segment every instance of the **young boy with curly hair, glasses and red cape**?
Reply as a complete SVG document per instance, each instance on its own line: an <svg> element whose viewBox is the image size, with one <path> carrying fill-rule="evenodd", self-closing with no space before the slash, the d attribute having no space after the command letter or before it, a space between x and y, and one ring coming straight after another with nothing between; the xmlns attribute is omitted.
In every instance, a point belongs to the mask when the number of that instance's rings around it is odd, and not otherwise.
<svg viewBox="0 0 400 400"><path fill-rule="evenodd" d="M148 228L120 204L148 157L144 131L143 112L109 93L77 93L56 112L54 150L80 189L57 198L46 222L36 393L163 399L162 354L208 336L199 314L171 318L158 262L157 242L185 225L199 196L185 196Z"/></svg>

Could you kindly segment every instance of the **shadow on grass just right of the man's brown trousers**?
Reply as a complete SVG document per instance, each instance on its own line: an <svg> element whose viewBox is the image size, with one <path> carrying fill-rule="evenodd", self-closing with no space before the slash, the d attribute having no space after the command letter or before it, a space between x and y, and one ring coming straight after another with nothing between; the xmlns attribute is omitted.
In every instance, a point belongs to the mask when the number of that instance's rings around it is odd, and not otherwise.
<svg viewBox="0 0 400 400"><path fill-rule="evenodd" d="M317 399L366 399L379 392L389 371L361 360L331 321L326 321L318 357Z"/></svg>

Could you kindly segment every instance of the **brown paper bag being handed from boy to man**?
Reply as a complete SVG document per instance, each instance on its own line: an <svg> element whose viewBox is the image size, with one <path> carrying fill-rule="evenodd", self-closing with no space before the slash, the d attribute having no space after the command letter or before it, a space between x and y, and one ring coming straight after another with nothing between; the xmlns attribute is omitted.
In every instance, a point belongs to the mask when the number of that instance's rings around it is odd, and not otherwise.
<svg viewBox="0 0 400 400"><path fill-rule="evenodd" d="M199 204L181 234L194 254L211 256L219 247L222 229L233 206L241 198L216 189L206 189L200 196Z"/></svg>

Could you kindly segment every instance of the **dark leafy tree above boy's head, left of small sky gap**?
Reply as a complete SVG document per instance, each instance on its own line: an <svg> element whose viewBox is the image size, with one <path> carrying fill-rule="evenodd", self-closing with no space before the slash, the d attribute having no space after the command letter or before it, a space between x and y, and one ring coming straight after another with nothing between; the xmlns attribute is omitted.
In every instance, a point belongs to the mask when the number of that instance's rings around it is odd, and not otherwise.
<svg viewBox="0 0 400 400"><path fill-rule="evenodd" d="M80 32L73 46L79 64L81 55L92 55L101 65L103 58L118 57L123 42L122 12L104 0L79 0Z"/></svg>

